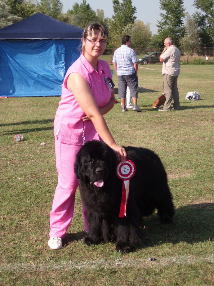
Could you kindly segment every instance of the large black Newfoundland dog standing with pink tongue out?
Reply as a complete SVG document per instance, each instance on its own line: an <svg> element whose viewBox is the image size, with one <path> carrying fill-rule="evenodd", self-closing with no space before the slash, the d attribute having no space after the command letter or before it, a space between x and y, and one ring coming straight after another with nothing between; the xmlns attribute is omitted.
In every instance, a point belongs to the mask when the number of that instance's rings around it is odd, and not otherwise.
<svg viewBox="0 0 214 286"><path fill-rule="evenodd" d="M74 165L81 199L87 209L89 235L87 245L116 240L122 253L141 243L142 217L158 209L161 223L171 223L174 215L172 196L163 164L151 150L125 147L127 159L136 173L130 179L126 216L119 217L122 180L117 178L114 151L101 141L89 141L79 150Z"/></svg>

